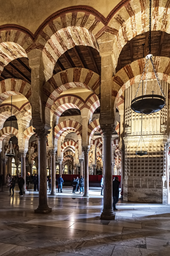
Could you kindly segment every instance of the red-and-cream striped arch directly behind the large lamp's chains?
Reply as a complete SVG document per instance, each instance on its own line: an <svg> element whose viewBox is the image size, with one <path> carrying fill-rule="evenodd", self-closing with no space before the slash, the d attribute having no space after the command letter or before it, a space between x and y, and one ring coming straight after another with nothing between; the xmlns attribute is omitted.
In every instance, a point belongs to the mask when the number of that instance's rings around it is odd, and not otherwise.
<svg viewBox="0 0 170 256"><path fill-rule="evenodd" d="M119 70L113 76L113 90L115 102L114 108L117 106L117 102L121 97L122 93L132 84L140 81L140 77L145 66L146 59L142 58L132 62L131 64L126 65L124 68ZM160 80L170 83L170 58L167 57L153 57L153 62L158 73ZM143 75L143 80L146 78L146 72ZM155 79L155 74L152 70L152 65L150 63L148 70L148 79Z"/></svg>

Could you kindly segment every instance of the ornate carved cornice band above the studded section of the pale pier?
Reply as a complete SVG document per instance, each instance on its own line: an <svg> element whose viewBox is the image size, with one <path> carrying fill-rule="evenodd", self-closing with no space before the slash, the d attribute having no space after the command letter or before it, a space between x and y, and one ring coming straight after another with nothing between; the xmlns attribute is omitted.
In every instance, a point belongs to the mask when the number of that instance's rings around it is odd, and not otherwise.
<svg viewBox="0 0 170 256"><path fill-rule="evenodd" d="M143 140L145 142L167 142L168 135L164 134L158 134L158 135L143 135ZM139 142L140 135L139 136L126 136L123 138L124 143L131 143L131 142Z"/></svg>

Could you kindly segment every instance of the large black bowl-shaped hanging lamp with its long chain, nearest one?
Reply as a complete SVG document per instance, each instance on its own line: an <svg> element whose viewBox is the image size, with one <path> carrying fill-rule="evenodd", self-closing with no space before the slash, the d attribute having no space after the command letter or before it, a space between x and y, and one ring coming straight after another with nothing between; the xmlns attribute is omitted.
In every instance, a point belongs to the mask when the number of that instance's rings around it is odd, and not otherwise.
<svg viewBox="0 0 170 256"><path fill-rule="evenodd" d="M155 113L160 111L164 106L165 106L165 99L166 96L164 94L161 82L159 80L157 71L155 69L153 60L152 60L153 55L151 54L151 0L149 1L149 54L146 56L146 63L145 63L145 67L143 69L142 72L142 76L140 78L140 82L139 82L139 86L135 95L135 99L132 100L131 102L131 109L137 113L141 113L141 114L151 114L151 113ZM153 71L155 74L155 78L158 82L158 85L160 87L160 90L162 92L162 95L157 95L157 94L153 94L154 91L152 91L152 94L146 94L146 89L147 89L147 80L148 80L148 69L149 69L149 60L152 64L153 67ZM143 74L145 72L145 69L147 67L147 71L146 71L146 83L145 83L145 92L143 94L143 86L142 86L142 96L136 97L140 88L140 84L143 78Z"/></svg>

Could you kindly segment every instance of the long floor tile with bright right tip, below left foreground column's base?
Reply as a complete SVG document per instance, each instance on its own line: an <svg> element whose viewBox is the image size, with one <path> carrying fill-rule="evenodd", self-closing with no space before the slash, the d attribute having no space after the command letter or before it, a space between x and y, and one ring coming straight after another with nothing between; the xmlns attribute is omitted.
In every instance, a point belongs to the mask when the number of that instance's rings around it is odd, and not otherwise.
<svg viewBox="0 0 170 256"><path fill-rule="evenodd" d="M52 226L52 227L60 227L60 228L69 228L74 223L75 222L73 221L49 220L49 219L38 219L38 218L25 222L25 224Z"/></svg>

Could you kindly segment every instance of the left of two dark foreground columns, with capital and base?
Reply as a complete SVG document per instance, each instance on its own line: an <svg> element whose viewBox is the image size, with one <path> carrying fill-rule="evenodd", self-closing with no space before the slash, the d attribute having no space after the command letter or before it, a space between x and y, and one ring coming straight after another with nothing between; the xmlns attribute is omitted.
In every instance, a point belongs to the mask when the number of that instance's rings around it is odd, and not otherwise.
<svg viewBox="0 0 170 256"><path fill-rule="evenodd" d="M35 126L34 126L35 127ZM37 126L38 127L38 126ZM48 127L47 127L48 128ZM35 213L48 213L52 208L47 204L47 151L46 137L50 133L48 129L40 128L33 130L38 135L38 176L39 176L39 204Z"/></svg>

